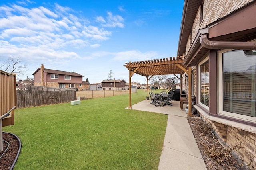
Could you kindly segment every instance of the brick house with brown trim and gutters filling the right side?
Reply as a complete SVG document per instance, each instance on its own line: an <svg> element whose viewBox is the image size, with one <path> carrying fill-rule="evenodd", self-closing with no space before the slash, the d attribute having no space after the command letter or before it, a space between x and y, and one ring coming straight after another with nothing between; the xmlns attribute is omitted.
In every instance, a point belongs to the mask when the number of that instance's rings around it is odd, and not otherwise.
<svg viewBox="0 0 256 170"><path fill-rule="evenodd" d="M254 50L254 51L253 51ZM200 116L256 165L256 1L185 0L177 55L186 55ZM206 92L206 90L208 92Z"/></svg>

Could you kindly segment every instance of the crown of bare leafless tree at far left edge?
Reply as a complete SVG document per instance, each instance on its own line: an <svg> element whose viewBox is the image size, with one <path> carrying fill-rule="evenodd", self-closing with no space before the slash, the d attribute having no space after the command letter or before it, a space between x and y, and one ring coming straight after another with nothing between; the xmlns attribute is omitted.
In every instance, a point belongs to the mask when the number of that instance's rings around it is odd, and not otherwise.
<svg viewBox="0 0 256 170"><path fill-rule="evenodd" d="M24 75L28 70L26 69L26 64L22 64L20 57L8 57L6 60L2 60L0 57L0 69L8 72L17 74L16 78L18 79L19 75Z"/></svg>

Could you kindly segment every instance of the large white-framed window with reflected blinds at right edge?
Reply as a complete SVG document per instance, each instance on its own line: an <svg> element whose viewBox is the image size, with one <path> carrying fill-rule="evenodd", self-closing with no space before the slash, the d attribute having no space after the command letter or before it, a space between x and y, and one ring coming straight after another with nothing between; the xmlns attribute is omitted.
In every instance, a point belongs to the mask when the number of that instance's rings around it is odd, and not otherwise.
<svg viewBox="0 0 256 170"><path fill-rule="evenodd" d="M219 113L256 121L256 55L222 50L219 64ZM253 117L253 118L252 118Z"/></svg>

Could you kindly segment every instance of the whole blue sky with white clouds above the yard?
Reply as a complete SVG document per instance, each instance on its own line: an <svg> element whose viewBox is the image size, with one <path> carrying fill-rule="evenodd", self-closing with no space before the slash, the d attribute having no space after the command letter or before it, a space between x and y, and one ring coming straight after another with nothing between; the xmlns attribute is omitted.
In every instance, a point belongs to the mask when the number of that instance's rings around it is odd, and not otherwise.
<svg viewBox="0 0 256 170"><path fill-rule="evenodd" d="M177 54L183 0L1 0L0 62L20 57L25 75L45 68L90 83L129 81L129 61ZM134 74L132 81L146 83Z"/></svg>

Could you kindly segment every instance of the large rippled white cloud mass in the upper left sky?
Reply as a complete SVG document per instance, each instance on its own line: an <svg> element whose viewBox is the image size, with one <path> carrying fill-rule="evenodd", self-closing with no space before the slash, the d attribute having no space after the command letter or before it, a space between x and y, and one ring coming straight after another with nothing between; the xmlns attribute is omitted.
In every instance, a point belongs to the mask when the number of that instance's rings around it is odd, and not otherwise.
<svg viewBox="0 0 256 170"><path fill-rule="evenodd" d="M82 51L100 47L102 41L111 37L112 31L107 27L124 27L121 16L108 12L106 19L97 17L98 22L105 21L103 26L90 23L81 13L58 4L34 8L24 5L0 6L1 56L14 55L30 62L51 64L115 56L108 52L80 55Z"/></svg>

